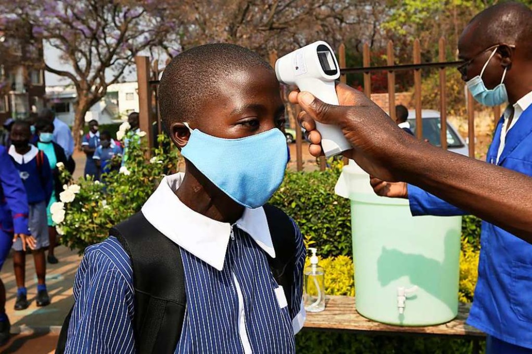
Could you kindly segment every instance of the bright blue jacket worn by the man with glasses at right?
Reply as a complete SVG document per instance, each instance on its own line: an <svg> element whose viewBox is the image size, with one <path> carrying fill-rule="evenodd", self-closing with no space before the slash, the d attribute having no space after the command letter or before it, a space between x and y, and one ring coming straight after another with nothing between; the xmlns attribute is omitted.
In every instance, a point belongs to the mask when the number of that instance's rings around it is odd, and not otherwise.
<svg viewBox="0 0 532 354"><path fill-rule="evenodd" d="M499 120L487 161L496 163L504 119ZM506 135L497 165L532 176L532 106ZM501 183L504 183L502 180ZM532 191L523 190L532 197ZM412 215L465 212L422 189L408 186ZM483 221L475 298L468 323L489 335L532 348L532 245Z"/></svg>

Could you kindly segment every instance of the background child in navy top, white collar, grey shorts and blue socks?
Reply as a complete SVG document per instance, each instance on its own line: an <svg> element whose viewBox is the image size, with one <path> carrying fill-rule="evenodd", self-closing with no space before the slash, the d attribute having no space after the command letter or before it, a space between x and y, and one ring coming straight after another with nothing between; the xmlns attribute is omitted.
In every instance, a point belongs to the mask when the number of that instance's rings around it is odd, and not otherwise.
<svg viewBox="0 0 532 354"><path fill-rule="evenodd" d="M37 273L37 306L46 306L50 303L46 291L46 260L44 248L49 245L48 222L46 206L53 193L52 170L43 151L30 145L31 131L28 122L16 122L11 128L11 148L9 154L26 189L29 204L29 229L35 238L35 249L32 250L35 271ZM26 281L26 252L22 241L16 240L13 244L15 251L13 263L15 269L16 292L15 310L23 310L29 306Z"/></svg>

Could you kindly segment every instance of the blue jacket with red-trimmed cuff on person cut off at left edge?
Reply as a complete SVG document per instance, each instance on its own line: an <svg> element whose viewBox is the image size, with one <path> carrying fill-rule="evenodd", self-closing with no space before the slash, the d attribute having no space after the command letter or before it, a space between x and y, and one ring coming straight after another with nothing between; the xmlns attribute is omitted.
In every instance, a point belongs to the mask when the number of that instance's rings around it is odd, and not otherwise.
<svg viewBox="0 0 532 354"><path fill-rule="evenodd" d="M0 228L9 233L29 234L26 189L4 146L0 146L0 184Z"/></svg>

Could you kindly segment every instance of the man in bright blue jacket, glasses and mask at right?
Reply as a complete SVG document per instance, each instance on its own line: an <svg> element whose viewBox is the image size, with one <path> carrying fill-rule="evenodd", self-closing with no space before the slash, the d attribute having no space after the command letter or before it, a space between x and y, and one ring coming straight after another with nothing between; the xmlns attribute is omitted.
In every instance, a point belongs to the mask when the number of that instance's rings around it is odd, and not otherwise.
<svg viewBox="0 0 532 354"><path fill-rule="evenodd" d="M458 46L465 61L459 71L473 97L485 106L509 102L487 162L532 176L532 11L519 3L489 7L471 20ZM408 198L413 215L465 213L412 185L376 178L371 184L379 195ZM488 334L487 354L530 354L532 245L485 221L480 241L468 323Z"/></svg>

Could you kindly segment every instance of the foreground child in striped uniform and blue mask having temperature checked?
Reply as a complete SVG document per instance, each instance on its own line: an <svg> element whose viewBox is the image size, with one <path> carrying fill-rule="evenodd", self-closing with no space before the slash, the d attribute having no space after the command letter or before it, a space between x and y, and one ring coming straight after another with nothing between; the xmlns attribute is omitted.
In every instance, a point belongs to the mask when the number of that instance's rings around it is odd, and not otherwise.
<svg viewBox="0 0 532 354"><path fill-rule="evenodd" d="M131 262L138 244L124 251L122 231L87 248L65 352L293 353L304 321L305 249L292 219L264 205L287 163L275 72L248 49L205 45L172 59L159 92L186 172L162 179L142 208L143 227L127 221L122 229L137 232L152 258ZM163 236L150 239L143 228ZM180 261L155 267L174 256L172 247ZM139 272L148 277L134 284ZM146 284L164 288L180 272L186 296L177 307L146 299Z"/></svg>

